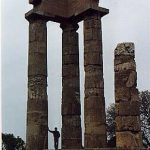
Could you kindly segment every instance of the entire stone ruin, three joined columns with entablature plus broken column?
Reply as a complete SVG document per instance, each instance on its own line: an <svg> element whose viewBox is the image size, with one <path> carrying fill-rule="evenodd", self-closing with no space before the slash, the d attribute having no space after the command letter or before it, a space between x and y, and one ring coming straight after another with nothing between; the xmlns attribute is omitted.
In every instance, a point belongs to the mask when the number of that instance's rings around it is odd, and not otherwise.
<svg viewBox="0 0 150 150"><path fill-rule="evenodd" d="M62 29L62 149L82 149L77 33L80 21L84 21L84 149L106 148L101 18L108 14L108 9L98 7L98 0L29 0L29 3L33 9L25 15L29 21L26 150L48 149L48 21L59 23ZM115 50L118 148L142 146L132 46L121 44ZM125 108L131 111L126 112Z"/></svg>

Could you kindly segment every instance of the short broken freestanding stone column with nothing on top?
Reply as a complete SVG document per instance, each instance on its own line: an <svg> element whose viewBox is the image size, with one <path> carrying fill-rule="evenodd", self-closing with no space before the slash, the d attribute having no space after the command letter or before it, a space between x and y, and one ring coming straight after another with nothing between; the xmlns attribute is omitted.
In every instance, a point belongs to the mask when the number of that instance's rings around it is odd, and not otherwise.
<svg viewBox="0 0 150 150"><path fill-rule="evenodd" d="M116 145L142 147L139 96L134 44L121 43L115 49Z"/></svg>

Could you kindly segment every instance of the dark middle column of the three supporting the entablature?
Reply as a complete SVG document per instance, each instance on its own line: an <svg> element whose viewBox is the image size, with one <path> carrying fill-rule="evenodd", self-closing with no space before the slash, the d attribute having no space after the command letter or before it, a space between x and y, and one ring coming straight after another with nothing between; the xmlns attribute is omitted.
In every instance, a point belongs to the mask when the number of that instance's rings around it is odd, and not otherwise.
<svg viewBox="0 0 150 150"><path fill-rule="evenodd" d="M81 106L77 23L61 24L62 149L81 149Z"/></svg>

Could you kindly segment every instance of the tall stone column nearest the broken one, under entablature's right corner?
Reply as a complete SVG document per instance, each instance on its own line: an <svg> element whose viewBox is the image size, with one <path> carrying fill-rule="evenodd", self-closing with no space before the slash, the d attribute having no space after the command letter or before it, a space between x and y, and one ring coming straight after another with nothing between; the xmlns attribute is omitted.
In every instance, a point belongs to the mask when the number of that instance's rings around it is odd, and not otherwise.
<svg viewBox="0 0 150 150"><path fill-rule="evenodd" d="M85 148L106 147L102 30L99 14L84 20Z"/></svg>

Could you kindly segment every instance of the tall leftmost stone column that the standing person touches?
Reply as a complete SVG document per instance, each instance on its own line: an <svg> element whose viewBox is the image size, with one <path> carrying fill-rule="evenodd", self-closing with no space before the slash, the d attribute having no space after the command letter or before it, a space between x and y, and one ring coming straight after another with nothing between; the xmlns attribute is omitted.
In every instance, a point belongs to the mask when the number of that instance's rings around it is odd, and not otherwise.
<svg viewBox="0 0 150 150"><path fill-rule="evenodd" d="M48 149L47 27L29 20L27 150Z"/></svg>

